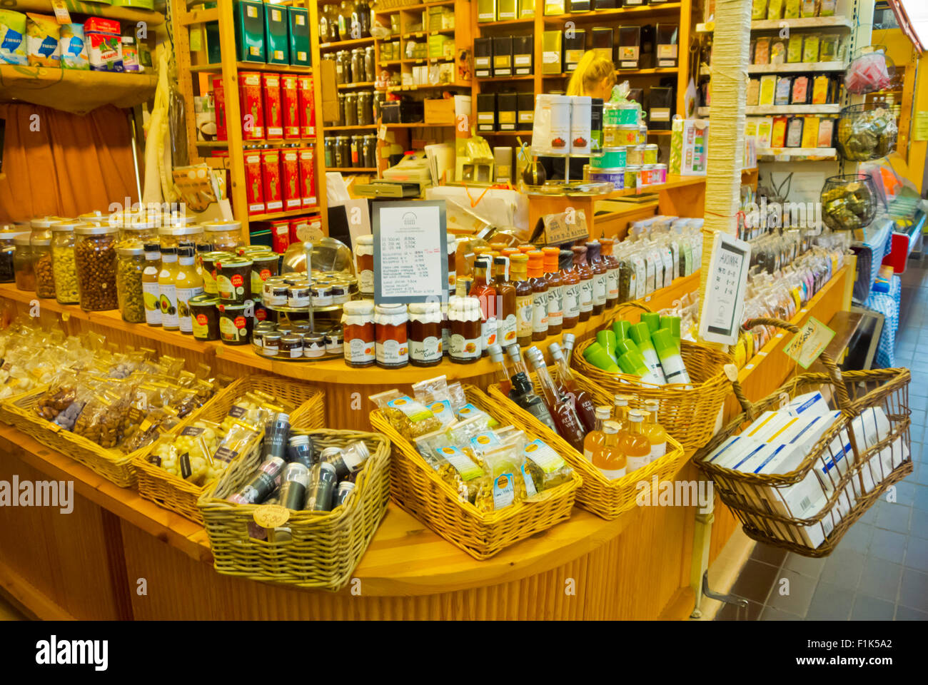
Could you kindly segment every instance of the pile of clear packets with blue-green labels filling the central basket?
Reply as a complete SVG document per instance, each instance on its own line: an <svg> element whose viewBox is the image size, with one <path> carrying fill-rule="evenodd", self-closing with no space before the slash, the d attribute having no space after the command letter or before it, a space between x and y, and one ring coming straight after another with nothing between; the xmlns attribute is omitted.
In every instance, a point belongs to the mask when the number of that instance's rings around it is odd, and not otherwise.
<svg viewBox="0 0 928 685"><path fill-rule="evenodd" d="M420 381L415 397L398 390L372 395L396 430L446 484L478 511L498 511L535 498L572 478L573 470L547 443L501 426L468 403L445 376Z"/></svg>

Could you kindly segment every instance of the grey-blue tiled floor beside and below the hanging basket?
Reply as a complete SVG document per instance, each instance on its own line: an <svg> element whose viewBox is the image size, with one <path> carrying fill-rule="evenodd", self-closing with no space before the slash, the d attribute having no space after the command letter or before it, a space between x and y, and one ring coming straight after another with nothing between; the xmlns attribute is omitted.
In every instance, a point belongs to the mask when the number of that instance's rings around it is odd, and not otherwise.
<svg viewBox="0 0 928 685"><path fill-rule="evenodd" d="M727 604L715 620L928 620L928 267L911 260L902 275L896 365L912 373L915 467L896 485L896 502L877 502L825 559L758 543L731 588L747 609Z"/></svg>

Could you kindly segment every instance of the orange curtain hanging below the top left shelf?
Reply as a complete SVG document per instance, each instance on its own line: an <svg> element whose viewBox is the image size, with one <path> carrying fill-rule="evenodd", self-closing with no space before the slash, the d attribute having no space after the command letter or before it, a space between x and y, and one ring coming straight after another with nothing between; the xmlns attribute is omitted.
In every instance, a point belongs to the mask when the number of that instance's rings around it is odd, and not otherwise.
<svg viewBox="0 0 928 685"><path fill-rule="evenodd" d="M78 116L9 103L0 104L0 119L0 223L106 212L110 202L138 200L127 112L107 106Z"/></svg>

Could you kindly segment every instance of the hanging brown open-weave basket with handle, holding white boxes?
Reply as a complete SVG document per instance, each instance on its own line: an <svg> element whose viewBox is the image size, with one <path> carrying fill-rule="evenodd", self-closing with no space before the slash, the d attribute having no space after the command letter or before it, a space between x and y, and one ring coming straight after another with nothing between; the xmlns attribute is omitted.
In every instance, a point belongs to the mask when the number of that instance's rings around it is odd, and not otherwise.
<svg viewBox="0 0 928 685"><path fill-rule="evenodd" d="M745 322L744 328L754 325L776 326L793 333L798 328L779 319L756 318ZM826 353L820 356L826 373L802 373L786 382L774 393L756 404L744 396L741 385L733 381L735 395L743 412L728 425L694 458L696 465L715 481L715 489L728 508L741 520L744 532L760 542L789 549L806 557L824 557L831 554L847 529L870 509L890 486L912 472L909 450L909 369L882 368L871 371L840 371ZM745 473L717 466L708 461L717 446L751 423L761 412L780 407L784 397L820 388L831 392L842 410L835 426L822 435L802 463L792 472L767 475ZM852 420L866 409L880 407L889 421L889 431L870 447L857 445L856 433L850 431ZM834 449L832 445L841 436ZM877 437L880 432L877 432ZM890 450L885 452L884 450ZM888 463L884 459L888 459ZM841 467L844 459L844 467ZM839 468L832 468L839 465ZM778 513L784 508L780 502L780 488L795 485L816 469L818 479L813 486L827 497L821 511L808 518ZM775 502L774 508L764 502ZM789 507L785 507L790 512ZM815 528L813 530L813 528ZM812 548L805 536L815 534L824 541Z"/></svg>

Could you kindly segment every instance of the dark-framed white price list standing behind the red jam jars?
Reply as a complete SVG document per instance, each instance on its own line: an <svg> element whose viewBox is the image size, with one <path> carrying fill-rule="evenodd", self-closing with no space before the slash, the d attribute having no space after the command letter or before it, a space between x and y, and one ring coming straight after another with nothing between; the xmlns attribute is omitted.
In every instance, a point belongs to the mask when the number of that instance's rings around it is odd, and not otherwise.
<svg viewBox="0 0 928 685"><path fill-rule="evenodd" d="M448 297L445 200L374 202L374 302Z"/></svg>

